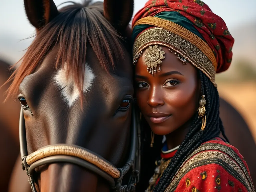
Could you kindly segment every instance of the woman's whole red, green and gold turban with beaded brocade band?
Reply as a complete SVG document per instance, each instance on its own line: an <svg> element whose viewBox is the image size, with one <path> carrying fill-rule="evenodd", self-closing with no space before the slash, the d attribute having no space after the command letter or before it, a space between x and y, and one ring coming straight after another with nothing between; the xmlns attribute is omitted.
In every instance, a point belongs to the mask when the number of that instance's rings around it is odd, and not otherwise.
<svg viewBox="0 0 256 192"><path fill-rule="evenodd" d="M150 56L147 54L150 46L165 46L181 62L190 62L201 70L215 86L215 73L230 66L234 38L223 19L202 1L149 0L135 14L132 27L134 64L143 52L143 56ZM153 55L151 60L157 58ZM161 70L162 59L157 52L158 55L153 66L148 63L151 74Z"/></svg>

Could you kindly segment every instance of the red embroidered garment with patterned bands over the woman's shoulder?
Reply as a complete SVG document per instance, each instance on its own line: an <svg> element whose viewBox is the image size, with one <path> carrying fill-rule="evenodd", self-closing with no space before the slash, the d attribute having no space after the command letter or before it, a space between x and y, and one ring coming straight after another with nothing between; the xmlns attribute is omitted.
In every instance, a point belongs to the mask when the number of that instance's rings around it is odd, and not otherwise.
<svg viewBox="0 0 256 192"><path fill-rule="evenodd" d="M203 143L180 167L166 191L255 191L239 151L220 138Z"/></svg>

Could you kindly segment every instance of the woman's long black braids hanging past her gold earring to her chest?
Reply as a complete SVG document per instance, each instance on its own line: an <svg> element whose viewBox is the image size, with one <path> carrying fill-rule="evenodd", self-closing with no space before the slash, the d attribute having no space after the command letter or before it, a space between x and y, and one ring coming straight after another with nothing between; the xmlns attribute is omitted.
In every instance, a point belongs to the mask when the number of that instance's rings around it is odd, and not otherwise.
<svg viewBox="0 0 256 192"><path fill-rule="evenodd" d="M213 86L210 79L206 77L204 73L199 71L201 80L201 93L206 97L206 127L204 131L201 131L202 118L198 118L198 114L195 114L192 126L187 133L182 144L175 153L172 161L168 167L164 170L158 184L154 188L154 192L163 192L170 184L172 178L177 173L179 167L185 162L187 157L203 142L208 141L214 137L219 136L220 131L225 139L228 141L222 121L219 117L219 94L217 89Z"/></svg>

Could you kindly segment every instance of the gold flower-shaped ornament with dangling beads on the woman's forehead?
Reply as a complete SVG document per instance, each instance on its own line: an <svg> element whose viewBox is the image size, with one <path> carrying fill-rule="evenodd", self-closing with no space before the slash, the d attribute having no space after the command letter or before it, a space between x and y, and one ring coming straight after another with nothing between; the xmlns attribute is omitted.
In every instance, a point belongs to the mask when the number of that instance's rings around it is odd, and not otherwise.
<svg viewBox="0 0 256 192"><path fill-rule="evenodd" d="M158 71L161 71L162 59L165 58L164 54L165 52L162 51L162 47L157 47L157 45L154 45L154 47L149 46L146 49L145 63L147 65L147 71L150 74L153 75L154 72L156 73L157 65L159 65Z"/></svg>

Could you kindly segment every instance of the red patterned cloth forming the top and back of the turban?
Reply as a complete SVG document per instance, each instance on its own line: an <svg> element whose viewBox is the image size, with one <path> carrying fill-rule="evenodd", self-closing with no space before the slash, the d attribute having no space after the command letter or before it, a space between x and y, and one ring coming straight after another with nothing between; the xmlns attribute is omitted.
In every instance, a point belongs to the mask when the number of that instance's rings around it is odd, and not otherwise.
<svg viewBox="0 0 256 192"><path fill-rule="evenodd" d="M155 16L165 11L177 11L195 24L195 28L204 37L212 49L217 63L217 73L229 68L232 59L234 38L219 16L200 0L150 0L134 16L132 25L140 18Z"/></svg>

